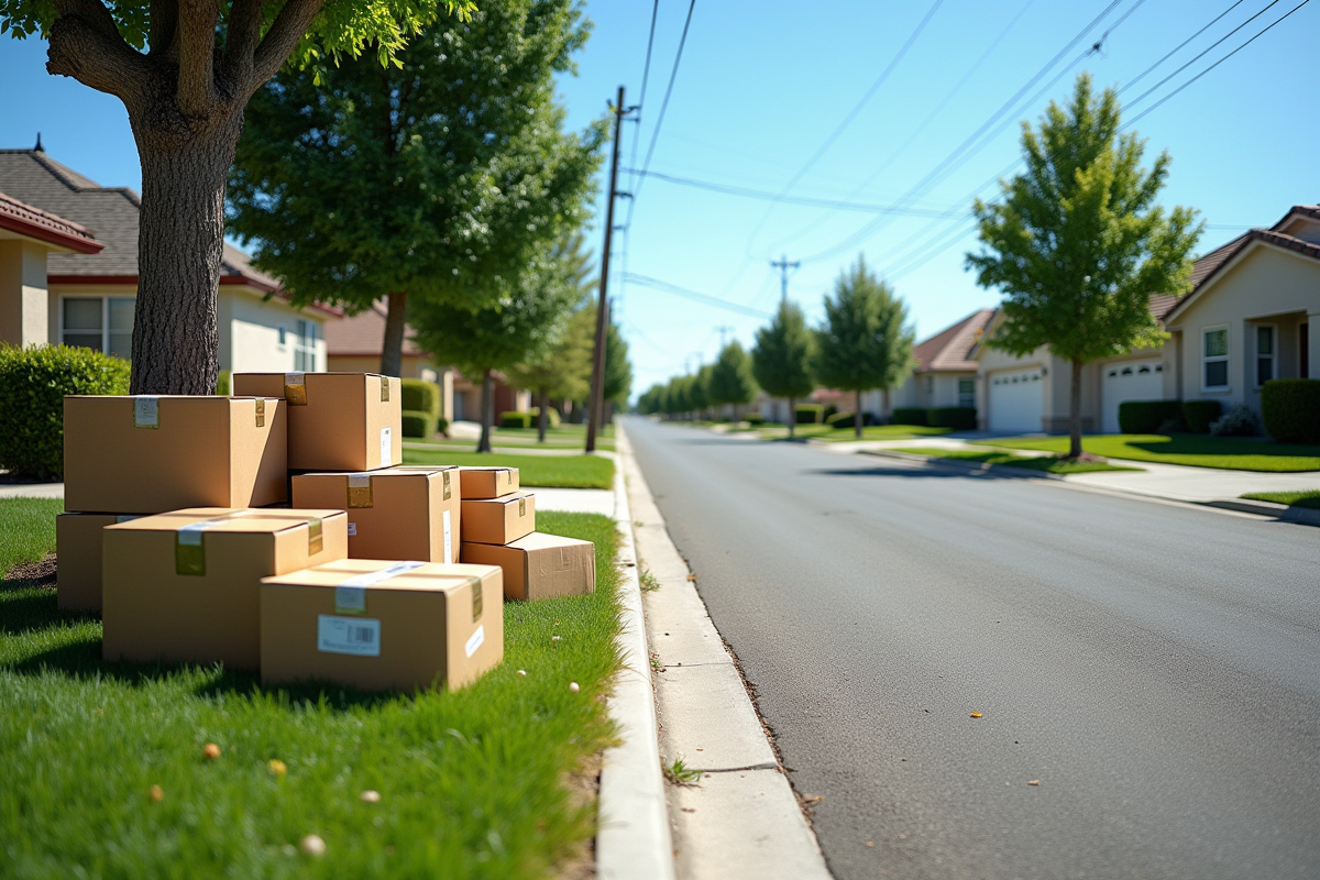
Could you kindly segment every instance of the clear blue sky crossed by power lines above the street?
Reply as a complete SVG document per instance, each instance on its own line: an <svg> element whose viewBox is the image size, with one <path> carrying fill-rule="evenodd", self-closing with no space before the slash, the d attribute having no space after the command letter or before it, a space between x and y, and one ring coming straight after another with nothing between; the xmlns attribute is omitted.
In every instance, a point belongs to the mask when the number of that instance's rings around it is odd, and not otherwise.
<svg viewBox="0 0 1320 880"><path fill-rule="evenodd" d="M697 0L655 141L656 175L640 190L635 178L620 177L620 189L638 198L627 234L616 236L611 293L631 344L635 391L709 361L722 336L750 344L763 323L754 313L771 310L779 296L770 260L781 253L803 261L789 296L810 319L820 317L832 280L859 253L907 301L919 335L994 305L997 294L962 268L962 255L974 247L968 206L1019 156L1019 120L1035 121L1051 98L1067 98L1081 70L1098 84L1126 86L1228 11L1125 88L1125 119L1133 119L1300 1ZM626 168L642 164L655 135L688 8L689 0L659 3L642 121L624 125ZM594 34L577 75L561 79L578 127L605 113L620 84L627 103L642 98L652 3L597 0L586 12ZM1085 54L1106 32L1100 50ZM1320 1L1304 4L1137 121L1150 156L1172 154L1163 201L1196 207L1210 224L1201 249L1249 226L1269 226L1291 204L1320 201L1317 42ZM48 75L44 63L42 44L0 40L0 146L30 146L40 129L54 158L102 183L136 187L123 108ZM659 174L907 214L760 201ZM981 191L991 195L994 187ZM620 201L619 223L627 212ZM599 248L599 224L591 236ZM622 282L624 268L739 310Z"/></svg>

